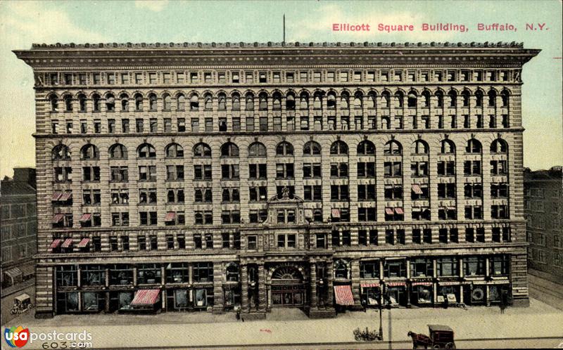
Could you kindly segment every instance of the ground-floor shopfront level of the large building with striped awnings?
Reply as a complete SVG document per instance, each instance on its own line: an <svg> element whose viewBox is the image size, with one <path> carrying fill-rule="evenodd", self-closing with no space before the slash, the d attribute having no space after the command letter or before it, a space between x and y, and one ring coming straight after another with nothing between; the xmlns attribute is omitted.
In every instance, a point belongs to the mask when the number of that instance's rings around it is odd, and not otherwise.
<svg viewBox="0 0 563 350"><path fill-rule="evenodd" d="M240 311L300 308L311 317L380 304L509 303L510 254L372 257L294 254L188 261L39 264L38 317L62 313ZM219 256L220 257L220 256ZM236 259L232 259L236 258ZM51 283L49 284L49 281Z"/></svg>

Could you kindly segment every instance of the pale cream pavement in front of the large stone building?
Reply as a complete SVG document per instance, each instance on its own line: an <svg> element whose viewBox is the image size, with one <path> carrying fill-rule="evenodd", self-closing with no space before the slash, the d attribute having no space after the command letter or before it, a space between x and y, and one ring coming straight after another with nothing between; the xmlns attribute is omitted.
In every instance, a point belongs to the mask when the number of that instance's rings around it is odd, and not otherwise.
<svg viewBox="0 0 563 350"><path fill-rule="evenodd" d="M293 311L291 312L293 313ZM31 332L91 332L94 347L136 348L165 346L233 346L283 345L354 342L355 328L379 328L376 310L347 312L337 318L308 320L236 322L234 315L208 313L163 313L158 316L80 315L57 316L51 320L18 319ZM390 318L391 316L391 318ZM468 310L393 309L384 311L384 337L409 342L407 332L428 332L429 323L442 323L455 330L455 339L486 339L514 337L561 337L563 313L535 299L529 308L509 308L504 314L496 307L474 307ZM391 324L391 328L388 325ZM390 337L391 334L391 337ZM407 344L407 343L403 343ZM410 344L407 345L410 347ZM40 342L26 349L41 349Z"/></svg>

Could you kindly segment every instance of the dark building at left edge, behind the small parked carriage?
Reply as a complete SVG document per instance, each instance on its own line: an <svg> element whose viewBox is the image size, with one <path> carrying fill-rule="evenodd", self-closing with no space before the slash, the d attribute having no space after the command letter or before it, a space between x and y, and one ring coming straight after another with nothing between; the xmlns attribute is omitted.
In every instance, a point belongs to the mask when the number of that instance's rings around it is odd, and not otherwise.
<svg viewBox="0 0 563 350"><path fill-rule="evenodd" d="M35 169L15 168L0 183L1 285L33 278L37 248Z"/></svg>

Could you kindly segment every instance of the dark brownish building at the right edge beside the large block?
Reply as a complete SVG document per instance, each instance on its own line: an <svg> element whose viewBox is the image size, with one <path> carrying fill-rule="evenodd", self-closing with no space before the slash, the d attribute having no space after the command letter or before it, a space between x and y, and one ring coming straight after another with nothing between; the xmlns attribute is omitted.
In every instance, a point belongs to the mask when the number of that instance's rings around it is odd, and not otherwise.
<svg viewBox="0 0 563 350"><path fill-rule="evenodd" d="M563 281L562 167L524 171L524 215L528 266L553 281Z"/></svg>

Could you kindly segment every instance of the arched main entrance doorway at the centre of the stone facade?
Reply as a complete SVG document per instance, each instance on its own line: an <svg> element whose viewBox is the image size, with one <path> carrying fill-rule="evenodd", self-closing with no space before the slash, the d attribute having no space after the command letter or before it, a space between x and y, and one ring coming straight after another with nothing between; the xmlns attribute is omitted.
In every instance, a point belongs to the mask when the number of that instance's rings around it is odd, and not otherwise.
<svg viewBox="0 0 563 350"><path fill-rule="evenodd" d="M303 274L295 266L280 266L272 273L272 307L301 307L305 304Z"/></svg>

